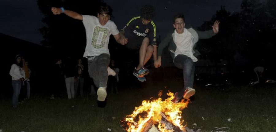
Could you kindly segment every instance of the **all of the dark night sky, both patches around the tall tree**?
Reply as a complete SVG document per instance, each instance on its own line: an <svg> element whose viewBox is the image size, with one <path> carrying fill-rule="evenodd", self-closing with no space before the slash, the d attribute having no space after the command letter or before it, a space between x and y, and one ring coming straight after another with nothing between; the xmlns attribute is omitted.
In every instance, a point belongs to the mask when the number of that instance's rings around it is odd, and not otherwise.
<svg viewBox="0 0 276 132"><path fill-rule="evenodd" d="M239 12L241 0L105 0L113 9L112 20L118 29L135 16L140 15L140 8L145 4L155 7L157 12L153 21L161 38L172 29L172 17L183 13L186 25L200 26L203 21L210 20L221 5L230 12ZM1 0L0 1L0 33L39 44L43 39L38 29L44 24L35 0ZM177 8L176 8L177 7ZM162 28L161 28L162 27Z"/></svg>

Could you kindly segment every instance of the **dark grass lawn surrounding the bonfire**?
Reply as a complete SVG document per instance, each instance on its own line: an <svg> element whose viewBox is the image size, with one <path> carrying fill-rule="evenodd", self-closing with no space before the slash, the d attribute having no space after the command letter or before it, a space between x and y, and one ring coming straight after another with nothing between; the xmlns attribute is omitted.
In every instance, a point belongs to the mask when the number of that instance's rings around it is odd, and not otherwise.
<svg viewBox="0 0 276 132"><path fill-rule="evenodd" d="M1 99L0 130L105 132L110 128L113 132L123 132L121 119L143 100L156 98L159 90L175 92L181 88L182 82L176 80L148 80L126 86L119 89L118 94L109 93L104 108L98 107L96 97L88 95L71 100L35 95L18 108L11 107L10 98ZM196 94L182 112L189 128L206 132L217 131L216 127L229 127L231 132L276 131L275 85L205 87L203 82L197 81L194 88Z"/></svg>

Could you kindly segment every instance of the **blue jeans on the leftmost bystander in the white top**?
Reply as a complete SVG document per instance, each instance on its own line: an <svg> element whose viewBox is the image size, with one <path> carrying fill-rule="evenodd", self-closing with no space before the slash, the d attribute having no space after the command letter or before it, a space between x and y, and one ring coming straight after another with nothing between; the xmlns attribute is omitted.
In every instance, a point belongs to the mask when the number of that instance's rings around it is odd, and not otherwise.
<svg viewBox="0 0 276 132"><path fill-rule="evenodd" d="M21 89L21 80L12 80L12 86L13 86L13 106L17 106L18 105L18 97L20 94L20 89Z"/></svg>

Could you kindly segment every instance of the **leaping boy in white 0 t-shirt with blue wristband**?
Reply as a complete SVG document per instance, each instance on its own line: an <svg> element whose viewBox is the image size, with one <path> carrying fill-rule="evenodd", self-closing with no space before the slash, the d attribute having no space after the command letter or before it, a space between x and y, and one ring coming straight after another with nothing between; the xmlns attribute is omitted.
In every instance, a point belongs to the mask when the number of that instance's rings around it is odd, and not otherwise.
<svg viewBox="0 0 276 132"><path fill-rule="evenodd" d="M89 75L98 87L98 101L105 101L108 79L107 68L110 62L109 36L112 34L118 43L126 44L126 40L119 35L115 23L109 20L111 8L108 5L100 6L97 17L81 15L63 7L53 7L52 13L55 15L64 13L74 19L82 20L86 30L86 48L83 57L88 59Z"/></svg>

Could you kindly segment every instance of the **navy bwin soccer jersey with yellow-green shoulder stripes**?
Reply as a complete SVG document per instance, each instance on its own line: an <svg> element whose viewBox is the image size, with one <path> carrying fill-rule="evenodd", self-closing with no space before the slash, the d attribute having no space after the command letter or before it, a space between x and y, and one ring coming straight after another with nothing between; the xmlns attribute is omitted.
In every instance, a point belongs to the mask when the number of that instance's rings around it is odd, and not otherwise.
<svg viewBox="0 0 276 132"><path fill-rule="evenodd" d="M140 16L133 17L122 29L126 38L148 37L151 45L156 45L156 27L153 21L144 25Z"/></svg>

